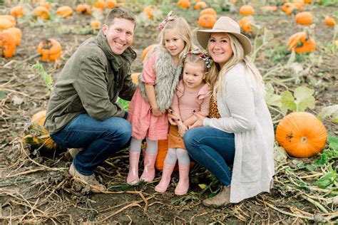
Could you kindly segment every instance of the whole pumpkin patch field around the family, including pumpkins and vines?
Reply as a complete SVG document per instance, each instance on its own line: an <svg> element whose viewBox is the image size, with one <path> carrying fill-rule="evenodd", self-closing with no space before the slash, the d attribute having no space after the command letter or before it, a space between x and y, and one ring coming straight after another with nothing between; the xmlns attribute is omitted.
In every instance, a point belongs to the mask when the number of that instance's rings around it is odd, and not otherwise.
<svg viewBox="0 0 338 225"><path fill-rule="evenodd" d="M187 195L174 194L178 172L164 194L154 191L161 171L154 182L132 187L126 184L128 148L96 169L106 192L94 194L72 179L69 152L43 128L46 105L68 58L96 36L114 7L126 7L137 18L133 78L170 11L188 21L194 38L220 16L240 23L252 41L250 57L265 81L275 127L270 193L217 209L204 206L219 185L196 163ZM337 23L337 0L0 1L0 222L337 223ZM128 109L127 101L119 101Z"/></svg>

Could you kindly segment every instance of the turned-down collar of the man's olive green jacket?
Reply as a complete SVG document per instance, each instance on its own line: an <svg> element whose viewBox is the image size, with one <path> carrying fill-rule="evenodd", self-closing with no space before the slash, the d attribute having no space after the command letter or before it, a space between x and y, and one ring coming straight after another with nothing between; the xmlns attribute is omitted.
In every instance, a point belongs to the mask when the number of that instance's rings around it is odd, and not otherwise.
<svg viewBox="0 0 338 225"><path fill-rule="evenodd" d="M135 60L136 53L130 47L128 47L121 55L116 55L116 53L113 53L102 30L98 32L96 39L98 41L98 46L106 54L108 60L112 62L114 68L121 68L125 61L128 61L131 64Z"/></svg>

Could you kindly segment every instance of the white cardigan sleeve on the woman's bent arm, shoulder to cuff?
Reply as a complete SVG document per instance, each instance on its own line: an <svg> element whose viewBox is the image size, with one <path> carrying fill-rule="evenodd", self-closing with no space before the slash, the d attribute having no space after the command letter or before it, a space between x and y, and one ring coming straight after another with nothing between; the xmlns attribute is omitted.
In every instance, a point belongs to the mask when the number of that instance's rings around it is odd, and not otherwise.
<svg viewBox="0 0 338 225"><path fill-rule="evenodd" d="M225 91L217 95L218 108L227 108L230 115L206 118L204 126L215 127L225 132L245 132L255 128L255 100L250 74L244 67L236 66L225 78ZM255 81L254 81L255 82ZM221 107L220 107L221 106Z"/></svg>

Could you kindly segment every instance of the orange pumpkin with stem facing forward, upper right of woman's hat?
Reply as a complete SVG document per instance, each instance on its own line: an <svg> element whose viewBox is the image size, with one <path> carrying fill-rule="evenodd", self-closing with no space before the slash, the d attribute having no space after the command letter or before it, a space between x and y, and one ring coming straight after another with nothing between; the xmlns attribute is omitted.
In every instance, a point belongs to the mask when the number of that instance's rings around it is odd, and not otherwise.
<svg viewBox="0 0 338 225"><path fill-rule="evenodd" d="M313 38L307 36L305 32L293 34L287 42L289 50L295 50L296 53L309 53L316 49L316 43Z"/></svg>

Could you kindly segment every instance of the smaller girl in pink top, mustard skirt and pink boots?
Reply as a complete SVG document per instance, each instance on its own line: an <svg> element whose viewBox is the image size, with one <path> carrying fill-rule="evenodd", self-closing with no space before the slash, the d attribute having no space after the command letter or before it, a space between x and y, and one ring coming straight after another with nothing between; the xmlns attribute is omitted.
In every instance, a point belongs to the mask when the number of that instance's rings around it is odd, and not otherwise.
<svg viewBox="0 0 338 225"><path fill-rule="evenodd" d="M204 79L210 67L210 58L198 49L188 51L185 55L183 80L180 80L176 88L171 105L172 113L176 117L176 125L170 125L169 150L165 157L162 178L155 187L156 192L167 190L177 159L180 179L175 194L183 195L188 192L190 158L182 137L188 127L196 122L195 112L204 116L209 115L209 85L204 82Z"/></svg>

